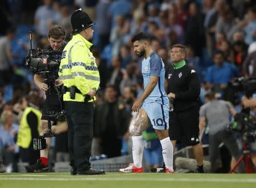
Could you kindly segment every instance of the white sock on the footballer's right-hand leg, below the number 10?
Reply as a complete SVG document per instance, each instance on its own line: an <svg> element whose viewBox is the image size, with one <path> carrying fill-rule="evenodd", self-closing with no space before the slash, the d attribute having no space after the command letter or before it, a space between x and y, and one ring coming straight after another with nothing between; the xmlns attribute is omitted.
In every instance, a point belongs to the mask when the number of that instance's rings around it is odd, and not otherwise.
<svg viewBox="0 0 256 188"><path fill-rule="evenodd" d="M166 164L166 168L169 170L174 170L174 148L172 147L172 143L169 137L160 140L162 145L162 153L164 164Z"/></svg>

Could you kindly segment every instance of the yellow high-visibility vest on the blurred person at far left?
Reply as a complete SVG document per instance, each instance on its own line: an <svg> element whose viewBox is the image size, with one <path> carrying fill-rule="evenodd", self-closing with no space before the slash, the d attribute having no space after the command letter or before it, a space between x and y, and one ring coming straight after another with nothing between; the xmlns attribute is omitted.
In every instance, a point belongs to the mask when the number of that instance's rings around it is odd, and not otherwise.
<svg viewBox="0 0 256 188"><path fill-rule="evenodd" d="M42 113L40 112L40 110L32 108L32 107L27 107L24 110L24 113L22 114L22 118L20 120L20 127L19 127L19 133L18 133L18 138L17 138L17 145L26 149L30 146L31 140L32 140L32 136L31 136L31 130L30 130L30 126L28 125L27 122L27 115L33 112L34 114L36 114L36 117L38 117L38 125L33 125L33 126L37 126L38 128L38 133L40 130L40 119L42 117Z"/></svg>

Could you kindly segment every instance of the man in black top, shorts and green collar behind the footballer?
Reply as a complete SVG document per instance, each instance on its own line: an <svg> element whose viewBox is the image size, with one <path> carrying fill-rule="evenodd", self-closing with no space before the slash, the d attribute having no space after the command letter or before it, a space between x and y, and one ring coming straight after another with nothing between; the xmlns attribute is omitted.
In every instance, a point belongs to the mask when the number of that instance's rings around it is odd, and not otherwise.
<svg viewBox="0 0 256 188"><path fill-rule="evenodd" d="M168 97L173 101L170 112L170 138L192 146L197 161L197 171L203 169L203 148L199 143L200 82L196 71L185 63L186 48L176 44L171 48L172 65L168 72Z"/></svg>

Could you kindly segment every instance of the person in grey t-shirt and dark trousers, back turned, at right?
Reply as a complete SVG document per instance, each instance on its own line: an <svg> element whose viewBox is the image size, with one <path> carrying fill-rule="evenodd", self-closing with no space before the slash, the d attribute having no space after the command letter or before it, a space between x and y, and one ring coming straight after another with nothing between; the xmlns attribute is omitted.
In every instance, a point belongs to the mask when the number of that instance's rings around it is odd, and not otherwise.
<svg viewBox="0 0 256 188"><path fill-rule="evenodd" d="M220 155L218 146L223 142L228 148L230 154L238 160L242 153L239 151L236 139L231 131L227 129L229 125L229 115L236 114L232 104L228 101L216 99L214 92L209 92L205 95L205 103L200 108L200 132L204 126L209 128L209 160L210 173L217 173L217 158ZM245 172L244 165L241 163L238 166L240 173Z"/></svg>

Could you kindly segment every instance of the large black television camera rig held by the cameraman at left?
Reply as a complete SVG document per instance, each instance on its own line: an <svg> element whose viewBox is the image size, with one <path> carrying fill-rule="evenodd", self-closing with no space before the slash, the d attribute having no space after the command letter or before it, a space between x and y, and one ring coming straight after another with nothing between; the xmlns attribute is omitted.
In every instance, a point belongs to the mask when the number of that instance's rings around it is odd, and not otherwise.
<svg viewBox="0 0 256 188"><path fill-rule="evenodd" d="M41 75L44 79L44 83L47 84L48 90L46 91L46 96L49 99L49 95L51 95L51 87L55 86L55 81L58 78L59 65L61 60L61 51L54 50L40 50L40 49L32 49L32 37L30 32L30 50L26 57L25 66L27 67L32 74ZM59 93L59 90L56 89ZM60 95L59 95L60 97ZM61 106L61 104L60 104ZM39 138L33 139L33 147L35 150L45 149L46 148L46 139L47 137L55 136L51 130L51 117L59 119L61 117L65 117L65 111L54 112L49 109L49 100L46 104L46 112L47 112L47 121L48 121L48 130L44 135L39 136Z"/></svg>

